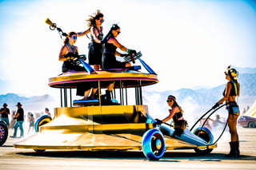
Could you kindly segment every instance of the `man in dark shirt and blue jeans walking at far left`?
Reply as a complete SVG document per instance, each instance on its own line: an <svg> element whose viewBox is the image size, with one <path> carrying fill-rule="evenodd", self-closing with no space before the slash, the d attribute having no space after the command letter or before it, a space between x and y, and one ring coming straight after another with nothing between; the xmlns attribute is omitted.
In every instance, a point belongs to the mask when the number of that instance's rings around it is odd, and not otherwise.
<svg viewBox="0 0 256 170"><path fill-rule="evenodd" d="M14 119L16 119L16 123L14 125L14 135L10 136L13 138L17 138L17 129L19 128L21 131L21 136L24 136L24 130L23 130L23 122L24 122L24 110L22 109L22 104L20 102L18 102L18 104L16 105L18 107L18 110L16 112L16 115L14 117Z"/></svg>

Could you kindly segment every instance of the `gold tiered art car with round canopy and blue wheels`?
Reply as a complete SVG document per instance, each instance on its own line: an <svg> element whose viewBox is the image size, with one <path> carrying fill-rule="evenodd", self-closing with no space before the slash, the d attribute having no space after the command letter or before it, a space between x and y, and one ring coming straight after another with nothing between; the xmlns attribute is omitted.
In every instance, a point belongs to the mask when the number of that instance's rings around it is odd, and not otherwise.
<svg viewBox="0 0 256 170"><path fill-rule="evenodd" d="M158 83L157 74L140 58L148 73L133 69L99 70L91 74L84 61L85 72L62 73L50 77L49 86L60 90L61 107L54 109L54 118L42 116L36 121L36 131L14 144L15 148L81 150L142 150L150 160L160 159L166 150L191 148L206 154L217 146L207 128L186 129L174 136L169 125L156 127L147 105L143 105L142 88ZM106 105L101 92L107 82L114 81L111 104ZM98 99L73 101L72 89L81 83L97 82Z"/></svg>

